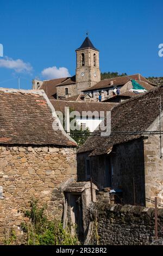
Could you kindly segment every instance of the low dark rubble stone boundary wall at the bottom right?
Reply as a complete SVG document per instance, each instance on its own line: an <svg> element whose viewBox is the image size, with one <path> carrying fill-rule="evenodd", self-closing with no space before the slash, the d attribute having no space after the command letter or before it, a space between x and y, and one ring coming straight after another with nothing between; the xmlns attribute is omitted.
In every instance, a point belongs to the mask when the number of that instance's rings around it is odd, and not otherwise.
<svg viewBox="0 0 163 256"><path fill-rule="evenodd" d="M89 211L91 221L97 216L89 244L97 244L96 233L99 245L149 245L155 239L154 208L91 203ZM163 209L158 210L158 237L163 239Z"/></svg>

